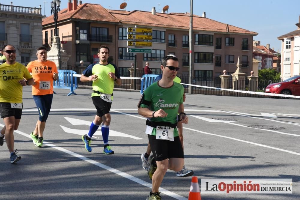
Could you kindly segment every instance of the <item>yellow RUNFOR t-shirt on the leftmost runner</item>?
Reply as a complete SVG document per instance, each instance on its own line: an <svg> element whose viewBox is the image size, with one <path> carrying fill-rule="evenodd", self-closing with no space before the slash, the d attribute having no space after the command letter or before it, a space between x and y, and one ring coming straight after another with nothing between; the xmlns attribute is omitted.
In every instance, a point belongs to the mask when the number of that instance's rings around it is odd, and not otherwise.
<svg viewBox="0 0 300 200"><path fill-rule="evenodd" d="M7 64L5 62L0 65L0 102L22 103L23 86L19 80L23 77L27 80L32 78L21 63Z"/></svg>

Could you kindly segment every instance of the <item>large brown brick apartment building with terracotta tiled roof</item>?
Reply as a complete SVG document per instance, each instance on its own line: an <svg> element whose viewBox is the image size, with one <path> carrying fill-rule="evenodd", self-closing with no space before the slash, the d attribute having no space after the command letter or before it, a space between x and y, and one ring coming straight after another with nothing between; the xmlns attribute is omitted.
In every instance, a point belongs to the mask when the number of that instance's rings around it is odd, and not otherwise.
<svg viewBox="0 0 300 200"><path fill-rule="evenodd" d="M62 7L62 6L61 6ZM150 9L149 9L150 10ZM74 55L68 65L78 66L79 61L93 63L100 45L110 48L112 62L121 75L128 75L128 68L134 61L134 53L127 52L127 28L152 28L152 53L137 53L137 68L142 70L146 62L154 73L160 72L161 59L175 54L180 60L179 73L188 74L189 60L189 13L158 13L152 11L109 10L99 4L82 4L69 1L67 8L58 13L58 35L63 41L62 48ZM45 18L43 39L51 45L54 33L53 16ZM250 41L256 32L233 25L193 15L193 73L198 77L213 77L236 70L240 56L243 72L250 75L252 70L252 45ZM143 48L143 47L138 47ZM149 47L144 47L149 49ZM76 56L75 56L76 55Z"/></svg>

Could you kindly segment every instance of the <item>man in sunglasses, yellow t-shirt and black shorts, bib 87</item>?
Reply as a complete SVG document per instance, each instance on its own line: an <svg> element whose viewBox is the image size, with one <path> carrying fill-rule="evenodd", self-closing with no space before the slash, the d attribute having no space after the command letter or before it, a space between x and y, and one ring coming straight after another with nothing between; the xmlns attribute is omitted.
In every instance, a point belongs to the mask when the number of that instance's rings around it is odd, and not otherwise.
<svg viewBox="0 0 300 200"><path fill-rule="evenodd" d="M16 62L16 49L12 45L4 46L6 62L0 65L0 115L5 126L0 131L0 146L5 141L10 153L10 163L21 159L14 149L13 131L18 129L23 103L22 86L32 85L33 78L26 67ZM25 79L27 80L25 80Z"/></svg>

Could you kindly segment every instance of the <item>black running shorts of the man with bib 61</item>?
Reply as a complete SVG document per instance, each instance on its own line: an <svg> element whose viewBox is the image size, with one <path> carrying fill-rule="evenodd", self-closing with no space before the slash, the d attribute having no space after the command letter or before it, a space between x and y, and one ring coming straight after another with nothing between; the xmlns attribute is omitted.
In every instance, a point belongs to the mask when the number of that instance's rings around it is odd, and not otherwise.
<svg viewBox="0 0 300 200"><path fill-rule="evenodd" d="M184 158L179 136L174 137L174 141L156 139L156 136L152 135L148 135L148 139L156 161L169 158Z"/></svg>

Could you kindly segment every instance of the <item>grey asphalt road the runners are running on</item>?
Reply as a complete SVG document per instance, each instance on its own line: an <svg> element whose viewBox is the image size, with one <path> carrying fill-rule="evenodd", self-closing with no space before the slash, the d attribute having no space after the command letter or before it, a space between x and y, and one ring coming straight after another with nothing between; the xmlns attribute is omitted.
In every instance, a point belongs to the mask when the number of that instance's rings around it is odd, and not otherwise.
<svg viewBox="0 0 300 200"><path fill-rule="evenodd" d="M91 90L77 89L76 96L67 96L68 90L55 91L44 147L37 148L29 134L38 112L31 88L24 87L22 119L14 133L22 159L10 164L6 145L0 147L0 199L146 199L151 181L140 159L147 146L146 120L137 114L140 93L114 91L109 139L115 154L104 155L100 131L94 135L91 153L81 140L95 116ZM201 194L202 200L300 199L299 102L187 94L185 164L199 184L201 178L293 180L292 194ZM190 183L191 177L176 178L168 171L161 196L187 199Z"/></svg>

